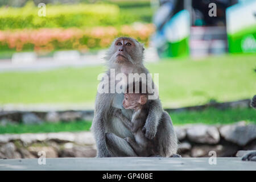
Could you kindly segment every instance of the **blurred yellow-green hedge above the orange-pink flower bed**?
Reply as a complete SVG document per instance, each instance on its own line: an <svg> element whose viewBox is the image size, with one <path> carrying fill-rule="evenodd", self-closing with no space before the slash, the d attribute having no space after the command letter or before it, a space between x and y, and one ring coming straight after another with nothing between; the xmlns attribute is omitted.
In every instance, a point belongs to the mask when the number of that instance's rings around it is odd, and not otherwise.
<svg viewBox="0 0 256 182"><path fill-rule="evenodd" d="M38 16L38 7L28 2L22 8L0 8L0 30L16 28L121 26L134 22L150 22L147 7L120 11L117 5L79 4L47 5L46 16Z"/></svg>

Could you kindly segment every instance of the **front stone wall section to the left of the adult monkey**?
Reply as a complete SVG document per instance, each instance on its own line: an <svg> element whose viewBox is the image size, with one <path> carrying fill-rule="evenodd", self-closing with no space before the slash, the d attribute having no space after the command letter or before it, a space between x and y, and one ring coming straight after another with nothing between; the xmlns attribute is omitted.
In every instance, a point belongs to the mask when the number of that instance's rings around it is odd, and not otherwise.
<svg viewBox="0 0 256 182"><path fill-rule="evenodd" d="M39 151L46 152L47 158L96 156L90 132L0 135L0 158L38 158Z"/></svg>

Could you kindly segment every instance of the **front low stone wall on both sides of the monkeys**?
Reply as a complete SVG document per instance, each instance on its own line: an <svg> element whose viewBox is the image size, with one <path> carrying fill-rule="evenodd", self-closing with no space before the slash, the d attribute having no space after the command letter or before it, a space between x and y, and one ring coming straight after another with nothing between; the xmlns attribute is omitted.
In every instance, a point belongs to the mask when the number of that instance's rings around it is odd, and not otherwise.
<svg viewBox="0 0 256 182"><path fill-rule="evenodd" d="M256 150L256 125L238 122L232 125L175 126L179 151L183 157L235 156L238 150ZM94 157L96 146L92 133L41 133L0 135L0 158Z"/></svg>

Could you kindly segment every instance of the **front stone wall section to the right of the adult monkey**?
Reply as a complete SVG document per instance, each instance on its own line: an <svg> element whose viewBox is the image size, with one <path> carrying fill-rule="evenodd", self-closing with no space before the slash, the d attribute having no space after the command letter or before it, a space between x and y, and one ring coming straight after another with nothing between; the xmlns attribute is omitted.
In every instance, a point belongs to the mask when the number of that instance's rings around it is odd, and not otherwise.
<svg viewBox="0 0 256 182"><path fill-rule="evenodd" d="M183 157L235 156L239 150L256 150L256 125L245 121L230 125L186 125L175 127L179 153Z"/></svg>

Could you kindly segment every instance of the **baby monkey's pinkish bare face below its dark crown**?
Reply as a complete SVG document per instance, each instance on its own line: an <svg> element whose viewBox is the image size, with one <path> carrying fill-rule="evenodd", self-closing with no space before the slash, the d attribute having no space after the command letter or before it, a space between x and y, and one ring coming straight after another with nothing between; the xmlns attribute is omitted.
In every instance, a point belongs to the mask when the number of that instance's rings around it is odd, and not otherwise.
<svg viewBox="0 0 256 182"><path fill-rule="evenodd" d="M125 109L137 109L141 105L146 104L147 97L138 93L125 93L125 98L123 99L123 107Z"/></svg>

